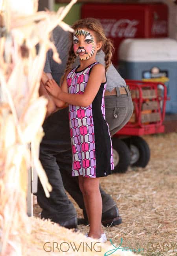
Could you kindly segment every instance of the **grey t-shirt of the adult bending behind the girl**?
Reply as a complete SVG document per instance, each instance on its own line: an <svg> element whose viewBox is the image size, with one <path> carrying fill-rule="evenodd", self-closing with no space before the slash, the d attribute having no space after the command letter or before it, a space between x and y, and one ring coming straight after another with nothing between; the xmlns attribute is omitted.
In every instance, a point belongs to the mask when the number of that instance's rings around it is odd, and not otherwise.
<svg viewBox="0 0 177 256"><path fill-rule="evenodd" d="M62 28L57 26L53 30L53 41L57 48L57 52L59 53L59 57L62 61L61 64L58 64L55 62L52 58L52 50L50 49L47 52L46 57L46 63L44 67L44 72L51 73L53 79L59 84L61 76L63 76L63 73L65 71L66 67L66 61L68 59L68 48L69 48L69 32L64 31ZM105 54L101 50L96 55L96 60L99 61L101 64L105 64L104 62ZM74 63L74 67L78 65L78 61ZM111 64L109 69L106 73L107 76L107 87L106 89L108 91L112 91L114 87L124 87L126 86L125 80L120 76L118 71L114 68L114 66Z"/></svg>

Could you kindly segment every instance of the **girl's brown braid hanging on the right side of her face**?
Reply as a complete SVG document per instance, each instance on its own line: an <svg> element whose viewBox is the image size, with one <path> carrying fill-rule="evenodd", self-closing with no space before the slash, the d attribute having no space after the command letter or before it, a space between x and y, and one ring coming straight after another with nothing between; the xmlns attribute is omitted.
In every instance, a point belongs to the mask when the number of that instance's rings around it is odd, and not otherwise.
<svg viewBox="0 0 177 256"><path fill-rule="evenodd" d="M111 65L112 54L114 52L114 46L110 39L105 37L105 43L103 45L103 52L105 53L105 70Z"/></svg>

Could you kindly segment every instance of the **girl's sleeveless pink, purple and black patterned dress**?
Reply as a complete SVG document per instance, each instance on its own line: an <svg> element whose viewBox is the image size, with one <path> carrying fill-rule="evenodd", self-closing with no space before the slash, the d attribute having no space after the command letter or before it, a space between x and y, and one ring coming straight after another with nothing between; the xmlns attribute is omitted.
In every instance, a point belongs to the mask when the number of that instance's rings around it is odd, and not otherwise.
<svg viewBox="0 0 177 256"><path fill-rule="evenodd" d="M69 93L84 93L90 71L96 64L99 62L81 71L77 71L77 66L69 72L66 78ZM88 107L69 104L72 176L97 178L111 174L114 169L112 141L105 121L105 89L106 82L101 83L97 95Z"/></svg>

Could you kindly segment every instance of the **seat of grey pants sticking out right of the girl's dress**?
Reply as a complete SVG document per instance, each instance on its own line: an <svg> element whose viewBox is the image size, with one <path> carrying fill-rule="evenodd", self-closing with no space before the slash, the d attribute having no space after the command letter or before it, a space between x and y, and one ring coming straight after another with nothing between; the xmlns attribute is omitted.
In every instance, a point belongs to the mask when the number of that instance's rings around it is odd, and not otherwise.
<svg viewBox="0 0 177 256"><path fill-rule="evenodd" d="M106 122L109 124L111 136L129 121L133 113L131 93L120 94L118 87L116 91L117 95L105 96Z"/></svg>

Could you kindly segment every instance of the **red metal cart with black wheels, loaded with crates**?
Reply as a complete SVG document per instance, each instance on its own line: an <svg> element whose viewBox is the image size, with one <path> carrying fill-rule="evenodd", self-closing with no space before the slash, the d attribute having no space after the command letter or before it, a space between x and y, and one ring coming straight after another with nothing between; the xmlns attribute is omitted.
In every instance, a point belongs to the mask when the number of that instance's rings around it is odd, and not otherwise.
<svg viewBox="0 0 177 256"><path fill-rule="evenodd" d="M126 80L131 90L134 112L129 122L112 137L115 172L125 172L129 165L145 167L150 150L140 135L164 132L167 98L164 83Z"/></svg>

